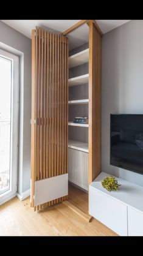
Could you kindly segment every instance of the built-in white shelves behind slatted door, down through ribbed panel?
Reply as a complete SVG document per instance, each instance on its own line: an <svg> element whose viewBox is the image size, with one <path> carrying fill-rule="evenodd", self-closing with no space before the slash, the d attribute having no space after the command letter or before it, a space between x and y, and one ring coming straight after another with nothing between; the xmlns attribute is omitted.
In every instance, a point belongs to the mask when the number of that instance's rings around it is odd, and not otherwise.
<svg viewBox="0 0 143 256"><path fill-rule="evenodd" d="M69 56L69 120L88 117L89 48ZM89 124L69 121L69 181L88 190ZM85 128L84 128L85 127Z"/></svg>

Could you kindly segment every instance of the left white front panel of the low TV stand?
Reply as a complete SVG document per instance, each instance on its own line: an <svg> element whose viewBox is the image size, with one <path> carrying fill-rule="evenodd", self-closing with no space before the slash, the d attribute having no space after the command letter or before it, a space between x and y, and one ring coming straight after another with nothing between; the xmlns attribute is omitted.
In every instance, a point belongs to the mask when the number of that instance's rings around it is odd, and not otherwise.
<svg viewBox="0 0 143 256"><path fill-rule="evenodd" d="M89 214L120 236L127 236L127 206L91 186Z"/></svg>

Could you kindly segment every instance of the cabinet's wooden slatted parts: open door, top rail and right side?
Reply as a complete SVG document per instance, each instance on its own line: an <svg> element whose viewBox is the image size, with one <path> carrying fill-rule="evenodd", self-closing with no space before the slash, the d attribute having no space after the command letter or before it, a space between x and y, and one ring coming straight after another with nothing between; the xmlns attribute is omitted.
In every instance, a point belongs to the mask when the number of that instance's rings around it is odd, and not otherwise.
<svg viewBox="0 0 143 256"><path fill-rule="evenodd" d="M81 26L84 23L89 26L90 184L101 172L102 31L94 20L83 20L77 24ZM32 31L32 207L35 206L35 181L68 173L68 38L63 35L78 26L75 24L60 36L43 29ZM52 106L51 110L48 104ZM53 205L66 198L57 198L46 205ZM38 205L37 209L43 206Z"/></svg>

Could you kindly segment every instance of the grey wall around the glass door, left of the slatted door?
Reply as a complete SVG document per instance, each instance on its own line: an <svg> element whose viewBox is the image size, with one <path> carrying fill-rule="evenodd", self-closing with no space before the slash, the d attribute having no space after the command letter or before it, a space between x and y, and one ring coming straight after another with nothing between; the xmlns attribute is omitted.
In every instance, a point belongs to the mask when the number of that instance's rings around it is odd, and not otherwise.
<svg viewBox="0 0 143 256"><path fill-rule="evenodd" d="M22 157L18 170L18 193L21 195L30 189L31 40L0 21L0 42L21 51L22 54L20 60L24 73L21 77L23 81L20 94L23 94L23 100L20 102L19 110L23 115L23 120L20 119L19 124Z"/></svg>

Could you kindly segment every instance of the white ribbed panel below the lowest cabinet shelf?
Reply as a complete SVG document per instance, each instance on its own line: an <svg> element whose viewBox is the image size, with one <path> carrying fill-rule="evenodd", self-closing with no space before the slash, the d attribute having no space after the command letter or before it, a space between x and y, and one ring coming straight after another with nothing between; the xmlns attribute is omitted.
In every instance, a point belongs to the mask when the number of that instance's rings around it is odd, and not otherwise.
<svg viewBox="0 0 143 256"><path fill-rule="evenodd" d="M69 148L69 181L88 190L88 153Z"/></svg>

